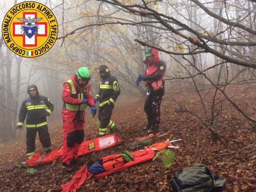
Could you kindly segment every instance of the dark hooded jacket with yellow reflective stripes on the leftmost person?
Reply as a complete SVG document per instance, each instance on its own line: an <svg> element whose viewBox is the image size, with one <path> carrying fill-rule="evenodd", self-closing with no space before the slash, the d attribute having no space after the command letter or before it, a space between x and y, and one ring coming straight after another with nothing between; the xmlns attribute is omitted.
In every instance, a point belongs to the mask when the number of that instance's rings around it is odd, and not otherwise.
<svg viewBox="0 0 256 192"><path fill-rule="evenodd" d="M35 89L37 91L37 95L35 97L30 95L29 90L31 89ZM29 96L21 104L19 123L17 125L23 125L26 116L27 128L47 125L46 116L53 112L53 103L46 96L39 95L36 85L30 85L27 92ZM48 107L48 109L46 109L46 107Z"/></svg>

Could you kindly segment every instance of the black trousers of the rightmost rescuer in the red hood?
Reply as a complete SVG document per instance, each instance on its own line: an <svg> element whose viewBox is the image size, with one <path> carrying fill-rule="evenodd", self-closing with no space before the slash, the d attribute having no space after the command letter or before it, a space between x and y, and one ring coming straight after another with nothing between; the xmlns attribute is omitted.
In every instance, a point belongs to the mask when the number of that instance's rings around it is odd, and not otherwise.
<svg viewBox="0 0 256 192"><path fill-rule="evenodd" d="M148 89L147 93L144 111L147 114L148 126L149 128L157 129L160 124L160 106L165 90L153 91Z"/></svg>

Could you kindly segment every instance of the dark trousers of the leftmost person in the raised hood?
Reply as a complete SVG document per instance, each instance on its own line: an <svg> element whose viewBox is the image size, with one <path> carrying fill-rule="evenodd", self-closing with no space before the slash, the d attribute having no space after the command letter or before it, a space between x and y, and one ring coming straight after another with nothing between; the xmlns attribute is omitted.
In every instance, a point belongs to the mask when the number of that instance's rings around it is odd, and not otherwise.
<svg viewBox="0 0 256 192"><path fill-rule="evenodd" d="M27 153L31 153L36 150L35 141L37 131L43 148L49 148L52 146L50 134L48 133L48 126L42 126L40 128L27 128Z"/></svg>

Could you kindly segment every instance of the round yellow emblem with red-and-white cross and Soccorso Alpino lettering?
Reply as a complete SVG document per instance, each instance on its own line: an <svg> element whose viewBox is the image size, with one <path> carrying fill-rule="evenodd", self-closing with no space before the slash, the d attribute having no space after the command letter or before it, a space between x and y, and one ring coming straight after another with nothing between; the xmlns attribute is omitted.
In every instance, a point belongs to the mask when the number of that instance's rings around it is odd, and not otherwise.
<svg viewBox="0 0 256 192"><path fill-rule="evenodd" d="M58 23L47 6L26 1L13 6L5 15L2 35L13 53L22 57L38 57L53 47Z"/></svg>

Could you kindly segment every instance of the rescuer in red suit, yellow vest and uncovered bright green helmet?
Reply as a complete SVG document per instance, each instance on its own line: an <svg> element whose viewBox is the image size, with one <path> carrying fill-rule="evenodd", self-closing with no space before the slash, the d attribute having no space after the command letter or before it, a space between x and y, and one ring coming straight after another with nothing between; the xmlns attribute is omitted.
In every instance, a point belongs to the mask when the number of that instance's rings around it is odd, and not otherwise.
<svg viewBox="0 0 256 192"><path fill-rule="evenodd" d="M84 140L85 107L91 107L91 114L95 117L96 107L93 102L89 80L91 73L86 67L77 70L63 85L62 99L64 107L63 118L63 155L62 163L66 171L74 171L77 152Z"/></svg>

